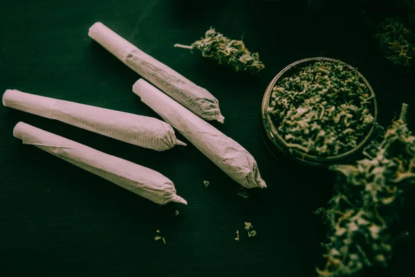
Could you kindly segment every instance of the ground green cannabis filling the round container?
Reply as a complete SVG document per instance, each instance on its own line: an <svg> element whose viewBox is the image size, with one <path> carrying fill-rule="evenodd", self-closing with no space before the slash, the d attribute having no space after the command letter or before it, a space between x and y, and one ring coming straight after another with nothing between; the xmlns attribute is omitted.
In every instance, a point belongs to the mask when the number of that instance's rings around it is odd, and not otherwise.
<svg viewBox="0 0 415 277"><path fill-rule="evenodd" d="M333 157L365 139L375 121L373 101L356 69L317 61L277 81L267 111L288 148Z"/></svg>

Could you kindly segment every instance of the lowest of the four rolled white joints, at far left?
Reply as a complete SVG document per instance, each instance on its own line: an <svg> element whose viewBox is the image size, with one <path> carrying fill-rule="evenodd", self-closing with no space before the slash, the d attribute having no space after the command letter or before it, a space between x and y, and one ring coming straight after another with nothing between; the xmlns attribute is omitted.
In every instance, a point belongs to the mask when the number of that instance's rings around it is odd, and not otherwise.
<svg viewBox="0 0 415 277"><path fill-rule="evenodd" d="M157 204L169 202L187 204L185 199L176 195L172 181L149 168L105 154L23 122L17 123L13 136L21 139L24 144L35 145Z"/></svg>

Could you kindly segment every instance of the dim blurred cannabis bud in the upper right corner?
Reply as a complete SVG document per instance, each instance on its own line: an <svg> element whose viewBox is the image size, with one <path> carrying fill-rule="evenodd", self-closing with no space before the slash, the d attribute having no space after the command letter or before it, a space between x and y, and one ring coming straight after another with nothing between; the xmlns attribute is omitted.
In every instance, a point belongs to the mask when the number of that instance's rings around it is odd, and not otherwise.
<svg viewBox="0 0 415 277"><path fill-rule="evenodd" d="M415 45L408 41L410 35L399 19L387 18L379 24L375 38L387 60L395 65L409 66L415 56Z"/></svg>

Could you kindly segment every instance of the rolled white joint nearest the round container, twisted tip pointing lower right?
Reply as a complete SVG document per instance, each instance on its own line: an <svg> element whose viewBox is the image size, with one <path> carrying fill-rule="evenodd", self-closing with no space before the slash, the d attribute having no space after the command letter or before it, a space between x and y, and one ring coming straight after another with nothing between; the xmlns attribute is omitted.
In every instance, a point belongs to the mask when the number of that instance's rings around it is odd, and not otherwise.
<svg viewBox="0 0 415 277"><path fill-rule="evenodd" d="M266 187L254 157L239 143L145 80L138 80L133 85L133 92L234 181L246 188Z"/></svg>

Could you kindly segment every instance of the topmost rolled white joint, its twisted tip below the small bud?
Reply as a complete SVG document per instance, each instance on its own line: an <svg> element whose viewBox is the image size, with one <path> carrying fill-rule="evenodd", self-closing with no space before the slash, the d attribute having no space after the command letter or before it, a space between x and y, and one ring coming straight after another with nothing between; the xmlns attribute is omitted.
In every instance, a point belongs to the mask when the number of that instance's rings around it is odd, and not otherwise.
<svg viewBox="0 0 415 277"><path fill-rule="evenodd" d="M101 22L93 24L88 35L133 71L201 118L223 123L225 118L221 115L219 101L206 89L144 53Z"/></svg>

